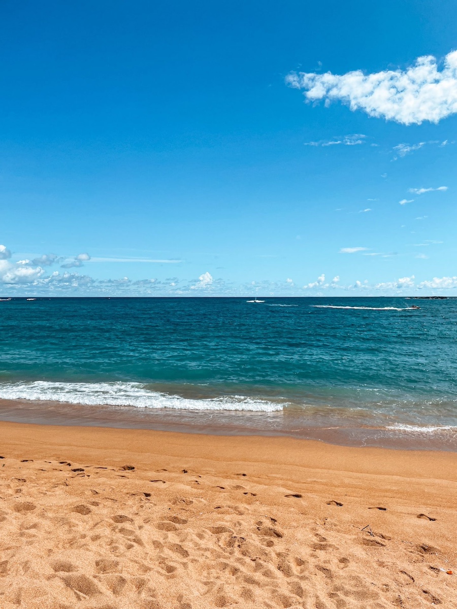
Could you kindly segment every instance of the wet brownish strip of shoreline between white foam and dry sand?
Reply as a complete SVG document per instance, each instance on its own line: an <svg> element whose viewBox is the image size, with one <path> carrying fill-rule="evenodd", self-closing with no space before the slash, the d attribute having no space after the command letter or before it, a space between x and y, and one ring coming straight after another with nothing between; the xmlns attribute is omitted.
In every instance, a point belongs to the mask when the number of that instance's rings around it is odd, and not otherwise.
<svg viewBox="0 0 457 609"><path fill-rule="evenodd" d="M445 426L408 429L374 427L344 415L304 417L300 411L150 409L70 404L46 400L0 400L0 421L54 426L150 429L187 434L283 437L334 446L457 452L457 430ZM421 430L422 431L419 431Z"/></svg>

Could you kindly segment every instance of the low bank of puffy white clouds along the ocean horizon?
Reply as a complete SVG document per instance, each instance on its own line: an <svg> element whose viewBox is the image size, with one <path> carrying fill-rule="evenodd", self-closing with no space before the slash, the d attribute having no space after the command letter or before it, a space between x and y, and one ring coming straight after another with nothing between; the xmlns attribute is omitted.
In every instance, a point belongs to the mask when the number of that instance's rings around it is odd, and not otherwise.
<svg viewBox="0 0 457 609"><path fill-rule="evenodd" d="M419 245L430 245L430 241ZM439 243L439 242L436 242ZM340 253L365 252L366 247L343 247ZM370 255L370 254L364 254ZM372 254L377 256L378 254ZM379 254L381 255L381 254ZM423 255L419 255L422 257ZM418 256L416 256L417 258ZM339 275L331 281L325 280L322 273L316 280L310 281L302 287L294 283L291 278L283 281L251 281L244 284L233 284L230 281L214 279L209 271L202 273L198 280L185 280L178 277L167 278L159 281L156 278L143 280L130 280L124 276L118 279L96 279L89 275L80 275L77 272L69 272L69 267L80 267L83 262L90 261L87 253L74 257L74 261L60 267L63 272L54 271L49 275L43 267L51 266L62 261L57 255L44 254L33 260L23 259L13 262L12 253L5 245L0 245L0 295L2 296L248 296L261 294L264 296L304 296L325 295L335 290L341 290L342 294L348 292L360 295L375 295L393 293L394 295L411 294L416 290L453 290L457 288L457 276L433 277L431 280L423 280L416 283L414 275L399 278L394 281L370 283L369 280L356 280L352 284L343 285ZM427 258L427 256L425 256ZM41 261L41 266L37 264ZM332 294L335 295L335 294Z"/></svg>

